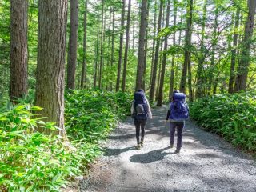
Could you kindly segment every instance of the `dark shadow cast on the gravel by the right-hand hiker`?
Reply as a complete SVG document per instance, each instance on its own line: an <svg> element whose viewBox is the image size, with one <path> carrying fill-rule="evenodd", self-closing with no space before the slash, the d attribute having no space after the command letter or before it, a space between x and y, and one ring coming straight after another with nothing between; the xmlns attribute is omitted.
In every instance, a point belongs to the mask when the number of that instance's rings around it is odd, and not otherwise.
<svg viewBox="0 0 256 192"><path fill-rule="evenodd" d="M152 150L146 154L134 154L130 157L130 162L139 162L139 163L151 163L162 160L168 154L174 153L162 153L164 150L169 149L169 147L165 147L160 150Z"/></svg>

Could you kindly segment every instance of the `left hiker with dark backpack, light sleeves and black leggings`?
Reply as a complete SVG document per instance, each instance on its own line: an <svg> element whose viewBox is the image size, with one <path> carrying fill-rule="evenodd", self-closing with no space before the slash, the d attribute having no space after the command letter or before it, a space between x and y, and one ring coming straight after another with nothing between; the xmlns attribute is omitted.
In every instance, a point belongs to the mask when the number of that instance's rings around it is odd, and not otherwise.
<svg viewBox="0 0 256 192"><path fill-rule="evenodd" d="M131 117L134 118L134 125L136 127L136 139L139 150L144 143L145 126L147 118L152 118L150 110L150 103L147 101L144 90L140 89L134 93L134 101L130 109ZM139 132L142 130L141 142L139 142Z"/></svg>

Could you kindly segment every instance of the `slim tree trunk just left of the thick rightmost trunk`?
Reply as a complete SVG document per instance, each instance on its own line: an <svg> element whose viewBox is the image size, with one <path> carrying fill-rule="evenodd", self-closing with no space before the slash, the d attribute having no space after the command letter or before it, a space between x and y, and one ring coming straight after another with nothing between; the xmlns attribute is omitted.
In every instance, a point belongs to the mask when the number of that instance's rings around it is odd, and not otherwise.
<svg viewBox="0 0 256 192"><path fill-rule="evenodd" d="M238 27L239 27L239 16L240 9L237 8L234 21L234 36L233 36L233 49L231 50L231 64L230 64L230 81L229 81L229 93L234 92L234 81L235 81L235 63L237 57L237 46L238 46Z"/></svg>

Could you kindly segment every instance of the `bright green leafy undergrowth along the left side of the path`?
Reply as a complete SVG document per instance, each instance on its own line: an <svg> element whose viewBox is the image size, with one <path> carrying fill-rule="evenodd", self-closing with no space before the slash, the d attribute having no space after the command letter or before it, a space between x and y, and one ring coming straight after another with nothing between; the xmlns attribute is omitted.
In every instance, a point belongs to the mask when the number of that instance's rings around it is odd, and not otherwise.
<svg viewBox="0 0 256 192"><path fill-rule="evenodd" d="M90 90L66 93L66 129L70 142L53 134L53 122L43 122L38 106L25 104L0 113L0 191L60 191L67 178L84 173L102 154L100 139L130 108L130 95Z"/></svg>

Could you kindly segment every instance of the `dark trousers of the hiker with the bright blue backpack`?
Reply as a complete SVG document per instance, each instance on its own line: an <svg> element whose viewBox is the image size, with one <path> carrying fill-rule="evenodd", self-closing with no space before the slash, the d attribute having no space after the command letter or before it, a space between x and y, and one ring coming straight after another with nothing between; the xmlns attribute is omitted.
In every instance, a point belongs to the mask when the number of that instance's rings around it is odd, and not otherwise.
<svg viewBox="0 0 256 192"><path fill-rule="evenodd" d="M170 122L170 145L174 145L174 134L177 128L177 149L182 148L182 130L184 129L184 122Z"/></svg>

